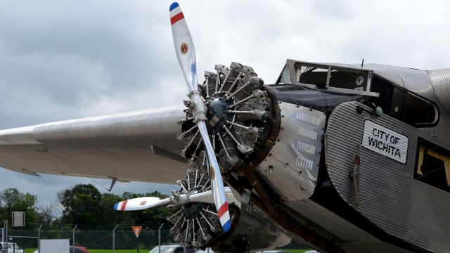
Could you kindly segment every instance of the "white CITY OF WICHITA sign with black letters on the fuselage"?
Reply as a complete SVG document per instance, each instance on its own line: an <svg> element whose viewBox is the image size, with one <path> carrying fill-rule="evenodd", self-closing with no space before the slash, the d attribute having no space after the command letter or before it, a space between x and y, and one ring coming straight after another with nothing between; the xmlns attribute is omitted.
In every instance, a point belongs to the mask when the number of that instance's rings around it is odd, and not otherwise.
<svg viewBox="0 0 450 253"><path fill-rule="evenodd" d="M406 164L409 138L387 126L366 119L361 145L375 153Z"/></svg>

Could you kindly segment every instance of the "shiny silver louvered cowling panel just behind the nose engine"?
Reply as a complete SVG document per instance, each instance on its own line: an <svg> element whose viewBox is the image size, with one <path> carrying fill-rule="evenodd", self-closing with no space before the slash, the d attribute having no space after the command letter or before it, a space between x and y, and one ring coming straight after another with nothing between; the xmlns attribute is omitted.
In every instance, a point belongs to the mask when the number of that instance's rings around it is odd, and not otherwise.
<svg viewBox="0 0 450 253"><path fill-rule="evenodd" d="M298 202L314 193L326 115L291 103L280 108L278 140L258 171L283 202Z"/></svg>

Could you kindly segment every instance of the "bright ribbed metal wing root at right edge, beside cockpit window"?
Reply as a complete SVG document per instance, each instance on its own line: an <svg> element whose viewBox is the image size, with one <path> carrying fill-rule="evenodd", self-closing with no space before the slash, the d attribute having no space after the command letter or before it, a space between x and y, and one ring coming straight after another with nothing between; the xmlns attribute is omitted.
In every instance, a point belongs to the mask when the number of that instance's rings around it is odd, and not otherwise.
<svg viewBox="0 0 450 253"><path fill-rule="evenodd" d="M428 75L439 102L450 112L450 69L428 71Z"/></svg>

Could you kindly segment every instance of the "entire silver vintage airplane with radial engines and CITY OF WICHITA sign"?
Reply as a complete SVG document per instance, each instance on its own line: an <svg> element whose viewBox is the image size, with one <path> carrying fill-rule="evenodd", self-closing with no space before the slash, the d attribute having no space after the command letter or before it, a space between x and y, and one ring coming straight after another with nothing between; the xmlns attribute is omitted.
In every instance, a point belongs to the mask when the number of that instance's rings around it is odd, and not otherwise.
<svg viewBox="0 0 450 253"><path fill-rule="evenodd" d="M184 105L0 131L0 166L176 183L174 240L255 252L290 238L321 252L448 252L450 69L287 60L275 84L216 65L198 84L178 4ZM186 162L187 161L187 162ZM217 211L219 210L219 211Z"/></svg>

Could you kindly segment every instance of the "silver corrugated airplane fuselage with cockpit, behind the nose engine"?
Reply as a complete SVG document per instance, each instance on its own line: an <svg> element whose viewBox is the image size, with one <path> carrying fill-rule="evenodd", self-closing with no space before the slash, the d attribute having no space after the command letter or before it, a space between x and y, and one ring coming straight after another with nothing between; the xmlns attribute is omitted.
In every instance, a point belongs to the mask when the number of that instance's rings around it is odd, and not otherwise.
<svg viewBox="0 0 450 253"><path fill-rule="evenodd" d="M446 252L449 80L450 70L288 60L266 87L281 144L257 174L325 251Z"/></svg>

